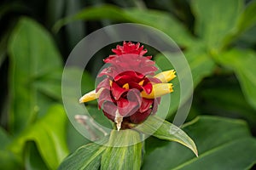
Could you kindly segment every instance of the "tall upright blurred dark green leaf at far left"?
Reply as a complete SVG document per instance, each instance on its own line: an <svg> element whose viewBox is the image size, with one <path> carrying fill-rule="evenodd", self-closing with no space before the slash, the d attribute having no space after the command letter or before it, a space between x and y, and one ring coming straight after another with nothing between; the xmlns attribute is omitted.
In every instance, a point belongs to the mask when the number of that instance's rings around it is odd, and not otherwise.
<svg viewBox="0 0 256 170"><path fill-rule="evenodd" d="M59 71L62 64L49 33L28 18L21 18L18 22L9 39L8 51L10 129L16 134L37 116L43 116L52 103L49 97L40 94L33 83L45 75Z"/></svg>

